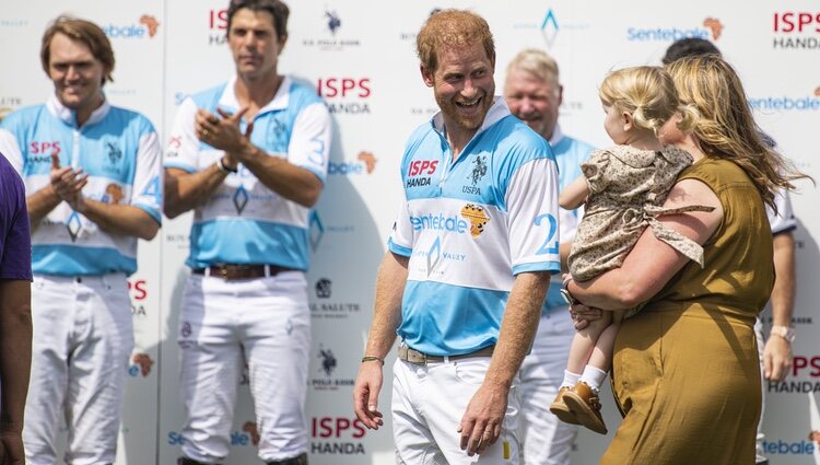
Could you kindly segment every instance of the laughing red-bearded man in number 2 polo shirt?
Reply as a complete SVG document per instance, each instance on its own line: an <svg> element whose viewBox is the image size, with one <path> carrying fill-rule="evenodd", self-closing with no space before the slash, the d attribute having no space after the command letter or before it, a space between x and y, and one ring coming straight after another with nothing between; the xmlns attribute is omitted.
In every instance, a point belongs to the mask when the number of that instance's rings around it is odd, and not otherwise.
<svg viewBox="0 0 820 465"><path fill-rule="evenodd" d="M518 369L560 268L555 162L494 97L482 18L434 13L417 50L441 113L406 147L354 410L382 425L382 365L398 334L397 463L518 464Z"/></svg>

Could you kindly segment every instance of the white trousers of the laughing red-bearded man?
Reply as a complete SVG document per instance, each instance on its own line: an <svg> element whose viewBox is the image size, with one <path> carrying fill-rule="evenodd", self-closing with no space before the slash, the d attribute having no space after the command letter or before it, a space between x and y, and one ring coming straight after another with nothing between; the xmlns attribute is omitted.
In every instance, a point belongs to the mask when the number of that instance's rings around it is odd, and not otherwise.
<svg viewBox="0 0 820 465"><path fill-rule="evenodd" d="M393 380L393 434L399 465L519 464L518 377L507 398L499 440L481 455L460 449L458 426L481 386L489 357L417 365L396 360Z"/></svg>

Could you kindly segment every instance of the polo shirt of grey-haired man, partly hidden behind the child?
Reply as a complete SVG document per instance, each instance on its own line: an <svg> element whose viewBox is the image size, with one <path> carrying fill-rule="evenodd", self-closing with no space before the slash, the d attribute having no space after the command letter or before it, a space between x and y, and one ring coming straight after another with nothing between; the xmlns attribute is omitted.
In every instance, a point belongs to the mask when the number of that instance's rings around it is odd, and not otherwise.
<svg viewBox="0 0 820 465"><path fill-rule="evenodd" d="M561 126L555 126L550 138L550 147L555 155L558 163L559 189L563 190L572 184L578 176L584 173L581 171L581 164L587 159L595 148L586 142L565 136L561 131ZM578 229L583 207L576 210L565 210L559 207L559 223L561 224L561 241L567 242L575 239L575 231ZM541 309L547 314L552 309L565 307L566 302L561 297L561 281L553 278L550 288L547 291L547 299Z"/></svg>

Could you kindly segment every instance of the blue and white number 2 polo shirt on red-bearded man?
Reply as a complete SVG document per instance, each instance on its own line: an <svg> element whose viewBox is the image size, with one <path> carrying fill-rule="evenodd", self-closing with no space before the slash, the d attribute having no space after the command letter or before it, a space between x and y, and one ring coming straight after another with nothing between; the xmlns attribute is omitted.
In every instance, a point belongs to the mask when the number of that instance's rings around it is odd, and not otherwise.
<svg viewBox="0 0 820 465"><path fill-rule="evenodd" d="M549 144L496 98L455 161L441 114L418 128L401 179L388 241L410 258L398 335L434 356L494 345L515 276L560 269Z"/></svg>

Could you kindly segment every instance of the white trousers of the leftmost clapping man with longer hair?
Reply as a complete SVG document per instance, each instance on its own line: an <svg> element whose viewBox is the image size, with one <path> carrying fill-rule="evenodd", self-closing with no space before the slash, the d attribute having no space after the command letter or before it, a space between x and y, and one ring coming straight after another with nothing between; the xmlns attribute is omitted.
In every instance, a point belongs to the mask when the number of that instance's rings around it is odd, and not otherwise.
<svg viewBox="0 0 820 465"><path fill-rule="evenodd" d="M69 428L66 463L114 462L133 349L125 275L35 276L32 321L32 376L23 430L27 463L58 463L55 441L61 414Z"/></svg>

